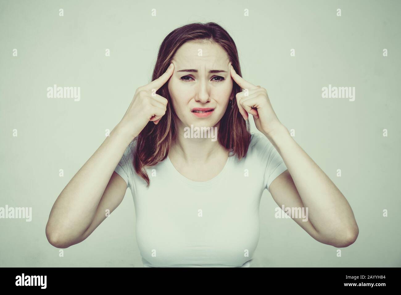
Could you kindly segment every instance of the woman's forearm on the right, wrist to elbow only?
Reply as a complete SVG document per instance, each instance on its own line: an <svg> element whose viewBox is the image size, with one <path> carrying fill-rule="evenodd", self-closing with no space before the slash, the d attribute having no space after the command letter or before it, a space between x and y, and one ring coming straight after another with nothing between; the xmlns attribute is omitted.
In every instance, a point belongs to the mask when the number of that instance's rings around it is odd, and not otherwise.
<svg viewBox="0 0 401 295"><path fill-rule="evenodd" d="M281 125L265 136L284 160L316 231L326 240L357 235L358 226L348 201L288 129Z"/></svg>

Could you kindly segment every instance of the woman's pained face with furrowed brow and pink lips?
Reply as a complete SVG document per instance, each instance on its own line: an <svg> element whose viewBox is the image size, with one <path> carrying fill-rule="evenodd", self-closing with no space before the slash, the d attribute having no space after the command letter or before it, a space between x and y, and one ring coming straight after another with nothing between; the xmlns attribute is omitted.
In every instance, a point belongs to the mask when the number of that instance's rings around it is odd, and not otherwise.
<svg viewBox="0 0 401 295"><path fill-rule="evenodd" d="M189 41L177 50L172 63L168 91L179 127L218 125L233 90L225 50L216 43Z"/></svg>

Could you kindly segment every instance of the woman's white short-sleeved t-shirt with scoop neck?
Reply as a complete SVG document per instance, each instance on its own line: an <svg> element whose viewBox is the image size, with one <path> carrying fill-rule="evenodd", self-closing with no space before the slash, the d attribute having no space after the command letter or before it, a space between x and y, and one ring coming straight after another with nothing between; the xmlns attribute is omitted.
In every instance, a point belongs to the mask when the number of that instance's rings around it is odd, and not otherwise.
<svg viewBox="0 0 401 295"><path fill-rule="evenodd" d="M134 170L135 144L115 172L134 198L144 267L250 267L262 192L287 170L273 144L251 134L246 157L230 156L221 173L204 182L181 175L167 157L146 169L149 188Z"/></svg>

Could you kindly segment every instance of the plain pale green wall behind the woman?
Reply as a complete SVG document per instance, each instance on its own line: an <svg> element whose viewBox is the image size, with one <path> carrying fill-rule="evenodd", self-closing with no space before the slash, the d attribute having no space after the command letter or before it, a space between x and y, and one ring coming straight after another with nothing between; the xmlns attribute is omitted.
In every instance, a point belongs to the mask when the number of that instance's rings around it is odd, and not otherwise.
<svg viewBox="0 0 401 295"><path fill-rule="evenodd" d="M360 230L337 257L336 248L293 220L276 219L277 204L265 191L254 266L401 266L401 2L146 2L0 2L0 206L32 207L33 215L31 222L0 219L0 266L142 267L130 190L64 257L47 241L45 226L105 129L113 129L136 88L150 81L163 38L195 21L218 22L231 34L243 77L267 89L279 120L345 195ZM47 98L53 84L81 87L81 100ZM355 87L355 101L322 98L329 84Z"/></svg>

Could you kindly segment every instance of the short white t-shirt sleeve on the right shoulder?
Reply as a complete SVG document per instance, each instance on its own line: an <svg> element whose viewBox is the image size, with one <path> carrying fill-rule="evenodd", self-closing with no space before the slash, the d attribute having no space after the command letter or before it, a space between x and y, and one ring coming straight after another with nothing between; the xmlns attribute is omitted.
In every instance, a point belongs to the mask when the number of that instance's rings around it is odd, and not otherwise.
<svg viewBox="0 0 401 295"><path fill-rule="evenodd" d="M287 170L287 166L274 145L260 134L255 134L258 139L257 146L259 151L260 163L266 165L263 177L263 186L270 192L269 186L274 179Z"/></svg>

